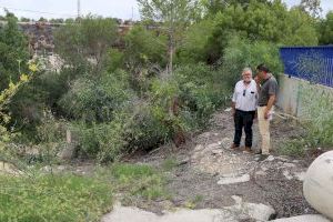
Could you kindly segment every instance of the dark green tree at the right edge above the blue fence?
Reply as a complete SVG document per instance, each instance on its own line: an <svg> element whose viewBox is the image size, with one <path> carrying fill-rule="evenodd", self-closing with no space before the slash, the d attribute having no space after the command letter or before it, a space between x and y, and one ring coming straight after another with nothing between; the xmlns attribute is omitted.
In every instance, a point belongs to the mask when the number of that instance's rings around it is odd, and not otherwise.
<svg viewBox="0 0 333 222"><path fill-rule="evenodd" d="M322 19L319 26L320 44L333 44L333 11Z"/></svg>

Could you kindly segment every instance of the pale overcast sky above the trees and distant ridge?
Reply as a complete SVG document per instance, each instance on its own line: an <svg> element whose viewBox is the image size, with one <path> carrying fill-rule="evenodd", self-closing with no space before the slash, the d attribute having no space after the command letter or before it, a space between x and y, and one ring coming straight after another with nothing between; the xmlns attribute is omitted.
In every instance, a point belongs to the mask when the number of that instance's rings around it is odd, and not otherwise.
<svg viewBox="0 0 333 222"><path fill-rule="evenodd" d="M297 4L300 0L283 0L289 7ZM14 12L18 17L39 19L69 18L78 13L78 0L0 0L0 13L3 8ZM333 0L322 0L324 14L333 10ZM49 13L42 13L49 12ZM120 19L140 19L137 0L81 0L82 14L99 14Z"/></svg>

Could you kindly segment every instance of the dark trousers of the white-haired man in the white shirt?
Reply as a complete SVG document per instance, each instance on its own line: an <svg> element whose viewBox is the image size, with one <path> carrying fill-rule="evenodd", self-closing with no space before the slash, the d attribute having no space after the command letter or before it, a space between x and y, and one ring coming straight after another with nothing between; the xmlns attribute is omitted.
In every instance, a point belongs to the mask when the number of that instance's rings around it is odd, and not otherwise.
<svg viewBox="0 0 333 222"><path fill-rule="evenodd" d="M233 143L240 145L242 139L243 128L245 131L245 147L252 147L252 124L254 119L255 111L241 111L236 110L234 114L234 139Z"/></svg>

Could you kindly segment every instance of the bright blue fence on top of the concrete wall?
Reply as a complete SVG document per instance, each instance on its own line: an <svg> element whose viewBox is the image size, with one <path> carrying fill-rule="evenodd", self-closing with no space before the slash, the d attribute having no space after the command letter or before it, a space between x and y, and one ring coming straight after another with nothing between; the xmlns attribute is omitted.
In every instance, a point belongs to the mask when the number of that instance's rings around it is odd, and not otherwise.
<svg viewBox="0 0 333 222"><path fill-rule="evenodd" d="M286 74L333 87L333 46L283 47L280 56Z"/></svg>

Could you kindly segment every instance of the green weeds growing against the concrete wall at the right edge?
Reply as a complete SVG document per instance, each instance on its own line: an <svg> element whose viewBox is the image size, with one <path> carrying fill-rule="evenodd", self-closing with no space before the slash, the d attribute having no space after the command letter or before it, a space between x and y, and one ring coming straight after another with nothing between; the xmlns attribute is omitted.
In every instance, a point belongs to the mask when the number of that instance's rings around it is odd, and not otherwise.
<svg viewBox="0 0 333 222"><path fill-rule="evenodd" d="M303 83L299 102L304 135L285 141L279 149L282 154L302 157L309 151L331 149L333 145L333 93L317 84Z"/></svg>

